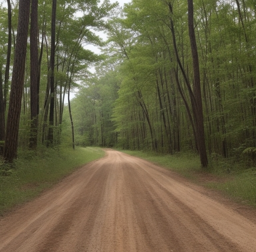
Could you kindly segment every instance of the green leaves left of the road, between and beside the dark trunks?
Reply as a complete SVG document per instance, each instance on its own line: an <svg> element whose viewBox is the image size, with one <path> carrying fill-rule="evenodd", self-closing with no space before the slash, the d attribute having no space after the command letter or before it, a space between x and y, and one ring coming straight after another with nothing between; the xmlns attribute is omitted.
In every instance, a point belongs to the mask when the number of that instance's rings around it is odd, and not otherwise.
<svg viewBox="0 0 256 252"><path fill-rule="evenodd" d="M16 29L18 26L18 1L12 4L12 56ZM88 68L96 62L103 60L100 56L88 50L87 45L103 46L102 39L96 34L103 31L107 26L107 17L110 16L116 3L111 4L108 0L77 2L73 0L60 0L57 2L56 10L56 48L55 48L55 108L54 108L54 144L60 143L60 128L62 124L62 108L68 89L74 91L80 86L82 80L88 78ZM39 91L39 115L38 115L38 144L48 143L49 127L49 90L50 80L50 41L51 41L51 18L52 2L49 0L38 2L38 45L42 52L40 64L40 91ZM29 34L28 34L29 36ZM42 47L41 47L42 42ZM0 70L4 77L4 66L6 64L6 50L8 44L8 15L7 9L0 5ZM42 51L41 51L42 50ZM30 43L27 44L26 70L24 78L24 93L22 99L22 110L20 116L20 128L18 145L27 148L30 145ZM10 76L12 70L12 58L10 64ZM10 88L8 90L10 92ZM46 92L47 91L47 92ZM5 116L8 112L7 108ZM48 114L48 116L47 116ZM45 117L45 118L44 118Z"/></svg>

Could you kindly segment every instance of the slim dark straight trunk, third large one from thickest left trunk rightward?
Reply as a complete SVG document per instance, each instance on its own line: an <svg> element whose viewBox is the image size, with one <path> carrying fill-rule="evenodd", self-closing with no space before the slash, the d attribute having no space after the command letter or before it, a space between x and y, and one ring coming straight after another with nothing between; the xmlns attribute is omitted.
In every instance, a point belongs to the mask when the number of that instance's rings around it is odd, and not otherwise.
<svg viewBox="0 0 256 252"><path fill-rule="evenodd" d="M53 144L53 126L54 126L54 56L55 56L55 21L56 21L56 2L52 0L52 34L51 34L51 76L50 76L50 114L49 114L49 132L48 140Z"/></svg>

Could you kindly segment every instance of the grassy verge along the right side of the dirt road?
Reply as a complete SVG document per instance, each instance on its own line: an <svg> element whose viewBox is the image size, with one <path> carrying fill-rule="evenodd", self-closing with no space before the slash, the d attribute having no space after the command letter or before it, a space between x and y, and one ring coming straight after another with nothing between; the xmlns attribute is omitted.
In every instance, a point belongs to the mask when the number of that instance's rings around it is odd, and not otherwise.
<svg viewBox="0 0 256 252"><path fill-rule="evenodd" d="M194 182L219 190L238 203L256 208L256 168L232 159L211 161L210 172L204 172L200 159L193 153L161 155L152 152L120 150L175 171Z"/></svg>

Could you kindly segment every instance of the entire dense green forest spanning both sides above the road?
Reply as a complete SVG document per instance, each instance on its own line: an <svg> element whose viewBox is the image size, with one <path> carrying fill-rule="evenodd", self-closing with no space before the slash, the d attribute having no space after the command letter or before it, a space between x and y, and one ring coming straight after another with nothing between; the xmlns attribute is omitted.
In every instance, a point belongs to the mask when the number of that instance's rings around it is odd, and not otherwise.
<svg viewBox="0 0 256 252"><path fill-rule="evenodd" d="M192 150L204 167L209 158L254 158L255 0L132 0L124 8L7 2L0 8L5 160L18 147L64 140L73 148Z"/></svg>

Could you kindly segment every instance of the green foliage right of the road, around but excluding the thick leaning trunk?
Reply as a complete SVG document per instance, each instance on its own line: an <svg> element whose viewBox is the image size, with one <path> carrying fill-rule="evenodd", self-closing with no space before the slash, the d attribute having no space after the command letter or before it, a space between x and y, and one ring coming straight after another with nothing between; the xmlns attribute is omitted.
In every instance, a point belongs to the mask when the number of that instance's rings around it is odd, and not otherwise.
<svg viewBox="0 0 256 252"><path fill-rule="evenodd" d="M256 22L252 2L241 4L241 20L235 2L194 0L209 155L255 160ZM172 18L178 56L193 89L187 2L172 4L171 13L164 1L132 1L109 22L106 53L118 62L112 68L120 82L112 117L121 148L155 148L163 153L196 150L188 116L191 97L177 66L170 24ZM250 153L249 149L242 153L246 148L252 148Z"/></svg>

